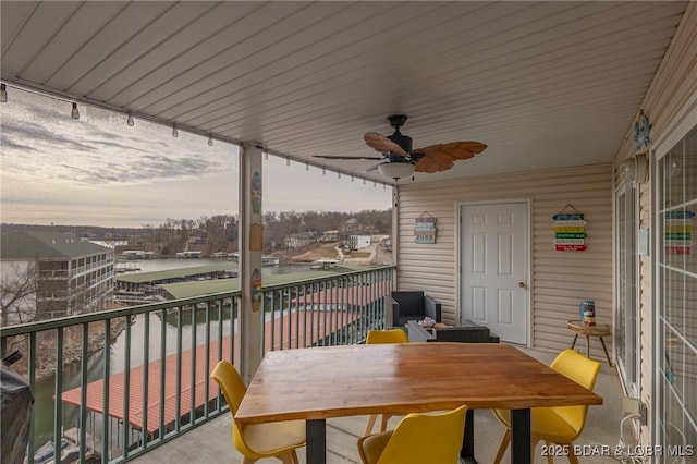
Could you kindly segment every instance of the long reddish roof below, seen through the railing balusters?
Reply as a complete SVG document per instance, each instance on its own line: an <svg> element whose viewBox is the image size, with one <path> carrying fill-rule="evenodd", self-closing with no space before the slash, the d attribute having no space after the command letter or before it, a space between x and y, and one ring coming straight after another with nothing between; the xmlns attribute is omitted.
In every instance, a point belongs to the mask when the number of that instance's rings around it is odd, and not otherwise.
<svg viewBox="0 0 697 464"><path fill-rule="evenodd" d="M355 313L346 310L327 313L297 309L290 315L277 317L273 321L266 321L264 327L266 351L309 347L318 340L325 340L357 319L358 316ZM290 333L294 335L288 338ZM145 431L151 437L171 430L176 423L188 422L192 404L195 410L199 410L218 395L217 384L209 380L209 370L218 362L218 353L222 352L223 358L230 358L232 352L233 364L239 364L240 350L235 344L235 349L231 351L232 342L232 337L227 335L221 341L211 341L209 346L199 345L195 350L182 351L180 356L171 354L163 359L150 362L147 365L147 398L144 396L146 378L144 366L134 367L127 373L130 383L127 391L125 389L126 373L111 375L107 380L109 398L107 415L120 422L127 420L133 429ZM206 353L208 353L208 359L206 359ZM195 371L192 366L195 366ZM81 390L77 387L63 392L61 401L80 407ZM105 414L105 380L88 383L86 398L87 411Z"/></svg>

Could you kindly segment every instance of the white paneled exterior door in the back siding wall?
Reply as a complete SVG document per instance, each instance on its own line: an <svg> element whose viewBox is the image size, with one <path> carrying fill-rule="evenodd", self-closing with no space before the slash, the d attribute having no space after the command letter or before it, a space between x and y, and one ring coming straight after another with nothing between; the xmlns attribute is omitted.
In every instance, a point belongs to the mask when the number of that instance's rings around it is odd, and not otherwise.
<svg viewBox="0 0 697 464"><path fill-rule="evenodd" d="M461 319L528 344L527 203L461 207Z"/></svg>

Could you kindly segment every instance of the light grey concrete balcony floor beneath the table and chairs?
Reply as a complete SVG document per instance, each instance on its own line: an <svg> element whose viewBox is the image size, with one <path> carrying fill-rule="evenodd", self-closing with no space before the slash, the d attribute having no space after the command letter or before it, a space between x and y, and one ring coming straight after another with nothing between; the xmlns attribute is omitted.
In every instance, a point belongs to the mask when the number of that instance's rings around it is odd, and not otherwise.
<svg viewBox="0 0 697 464"><path fill-rule="evenodd" d="M597 341L596 341L597 342ZM580 343L580 342L579 342ZM591 341L592 343L592 341ZM582 350L585 346L582 343ZM524 350L533 357L545 364L549 364L554 354ZM596 383L596 392L603 398L600 406L590 406L584 432L574 444L592 445L599 450L599 445L609 447L610 454L614 452L620 442L620 422L624 417L622 412L622 388L614 367L610 367L607 361L602 362L602 368ZM327 462L329 464L360 463L356 450L356 440L360 437L368 420L368 416L341 417L327 420ZM392 417L389 427L394 427L400 417ZM628 426L628 425L627 425ZM378 425L379 427L379 420ZM503 426L489 411L475 411L475 457L479 463L491 463L499 449L503 435ZM628 427L625 434L628 434ZM598 445L598 447L596 447ZM587 448L589 449L589 448ZM536 462L546 462L541 456L541 444L536 450ZM586 454L590 454L586 452ZM305 449L298 450L301 462L305 462ZM583 463L616 463L619 460L612 455L579 455ZM242 463L242 455L232 443L231 417L223 415L204 426L197 427L181 438L160 445L145 455L134 460L137 464L170 464L170 463ZM279 462L274 459L261 460L262 462ZM509 452L503 462L510 462ZM555 457L555 463L567 463L566 457Z"/></svg>

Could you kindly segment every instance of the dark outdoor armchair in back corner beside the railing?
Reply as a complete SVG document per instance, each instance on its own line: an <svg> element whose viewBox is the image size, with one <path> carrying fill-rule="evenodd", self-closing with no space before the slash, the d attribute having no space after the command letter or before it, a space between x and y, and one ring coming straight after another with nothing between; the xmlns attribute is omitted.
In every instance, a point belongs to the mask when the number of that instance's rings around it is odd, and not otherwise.
<svg viewBox="0 0 697 464"><path fill-rule="evenodd" d="M440 303L421 291L394 291L384 296L384 325L404 328L409 320L430 317L440 322Z"/></svg>

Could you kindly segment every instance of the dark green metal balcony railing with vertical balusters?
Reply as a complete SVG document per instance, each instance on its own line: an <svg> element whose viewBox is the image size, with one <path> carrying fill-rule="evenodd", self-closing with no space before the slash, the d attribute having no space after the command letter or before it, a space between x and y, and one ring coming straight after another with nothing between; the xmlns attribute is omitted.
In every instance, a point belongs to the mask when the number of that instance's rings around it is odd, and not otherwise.
<svg viewBox="0 0 697 464"><path fill-rule="evenodd" d="M264 286L264 352L362 343L383 327L393 272ZM1 328L0 354L23 353L13 368L35 396L27 462L49 441L65 443L57 463L126 462L225 413L209 373L219 359L240 365L240 300L225 292Z"/></svg>

